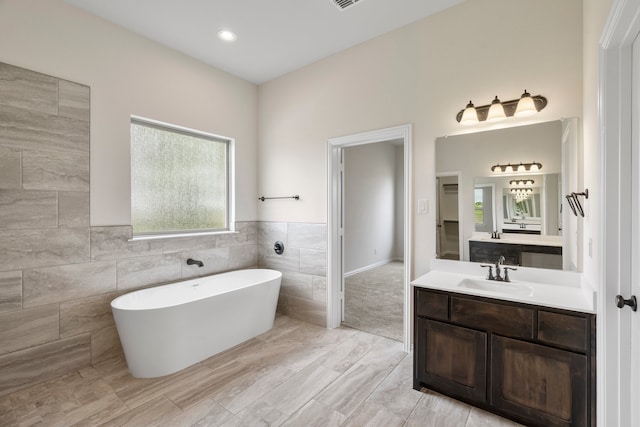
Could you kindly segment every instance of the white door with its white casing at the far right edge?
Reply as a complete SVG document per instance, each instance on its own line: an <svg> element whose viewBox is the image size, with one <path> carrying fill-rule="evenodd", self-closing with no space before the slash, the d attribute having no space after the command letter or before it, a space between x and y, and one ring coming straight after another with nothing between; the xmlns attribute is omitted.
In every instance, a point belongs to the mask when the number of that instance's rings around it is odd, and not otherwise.
<svg viewBox="0 0 640 427"><path fill-rule="evenodd" d="M598 298L598 425L637 426L640 311L640 0L615 0L601 39L602 288Z"/></svg>

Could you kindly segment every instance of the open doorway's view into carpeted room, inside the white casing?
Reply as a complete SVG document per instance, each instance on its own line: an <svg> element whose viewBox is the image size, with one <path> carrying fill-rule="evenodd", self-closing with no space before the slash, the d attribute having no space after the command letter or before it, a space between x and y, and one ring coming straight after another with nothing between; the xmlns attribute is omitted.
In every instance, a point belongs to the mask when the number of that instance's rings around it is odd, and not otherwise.
<svg viewBox="0 0 640 427"><path fill-rule="evenodd" d="M404 142L342 150L342 324L402 341Z"/></svg>

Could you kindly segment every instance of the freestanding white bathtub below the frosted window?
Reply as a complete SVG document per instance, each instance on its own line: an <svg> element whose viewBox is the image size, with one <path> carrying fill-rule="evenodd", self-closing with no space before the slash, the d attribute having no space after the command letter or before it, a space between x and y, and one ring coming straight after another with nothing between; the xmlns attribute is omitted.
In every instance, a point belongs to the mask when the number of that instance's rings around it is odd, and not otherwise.
<svg viewBox="0 0 640 427"><path fill-rule="evenodd" d="M111 302L131 375L172 374L273 327L282 273L238 270Z"/></svg>

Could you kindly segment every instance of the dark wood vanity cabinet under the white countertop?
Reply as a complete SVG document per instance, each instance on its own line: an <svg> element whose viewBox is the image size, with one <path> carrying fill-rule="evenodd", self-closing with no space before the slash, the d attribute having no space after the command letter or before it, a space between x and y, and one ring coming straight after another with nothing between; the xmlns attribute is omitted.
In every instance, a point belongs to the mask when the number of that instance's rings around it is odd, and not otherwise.
<svg viewBox="0 0 640 427"><path fill-rule="evenodd" d="M531 426L595 426L595 315L414 288L414 388Z"/></svg>

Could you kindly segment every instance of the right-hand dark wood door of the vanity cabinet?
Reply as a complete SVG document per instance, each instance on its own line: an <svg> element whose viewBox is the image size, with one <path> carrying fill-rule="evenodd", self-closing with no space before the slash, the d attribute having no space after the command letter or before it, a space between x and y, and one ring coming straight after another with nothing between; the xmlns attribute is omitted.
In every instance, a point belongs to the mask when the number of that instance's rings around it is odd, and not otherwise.
<svg viewBox="0 0 640 427"><path fill-rule="evenodd" d="M493 335L491 404L539 426L587 425L587 357Z"/></svg>

